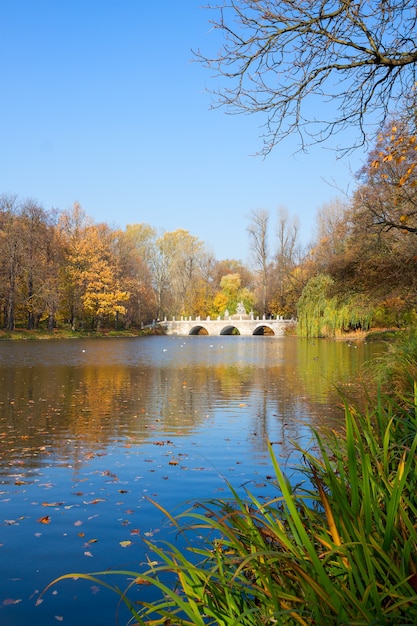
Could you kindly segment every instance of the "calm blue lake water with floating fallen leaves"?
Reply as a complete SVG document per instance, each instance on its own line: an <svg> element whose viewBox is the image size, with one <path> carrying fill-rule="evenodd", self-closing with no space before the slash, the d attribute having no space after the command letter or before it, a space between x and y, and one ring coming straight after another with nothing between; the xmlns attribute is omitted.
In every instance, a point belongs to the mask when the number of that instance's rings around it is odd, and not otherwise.
<svg viewBox="0 0 417 626"><path fill-rule="evenodd" d="M0 343L0 624L127 623L117 597L67 572L140 571L143 539L175 541L150 499L271 486L266 440L342 419L380 347L296 338L148 337ZM269 491L270 492L270 491ZM121 581L120 581L121 584ZM142 593L150 593L147 588Z"/></svg>

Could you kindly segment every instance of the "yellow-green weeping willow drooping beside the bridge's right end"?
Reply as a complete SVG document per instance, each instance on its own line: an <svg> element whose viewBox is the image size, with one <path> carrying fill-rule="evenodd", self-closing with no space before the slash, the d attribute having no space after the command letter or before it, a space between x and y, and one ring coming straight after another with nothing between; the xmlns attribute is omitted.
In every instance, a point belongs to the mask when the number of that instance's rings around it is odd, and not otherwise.
<svg viewBox="0 0 417 626"><path fill-rule="evenodd" d="M331 295L334 281L328 274L311 278L298 301L298 334L334 337L350 328L369 328L372 311L355 296Z"/></svg>

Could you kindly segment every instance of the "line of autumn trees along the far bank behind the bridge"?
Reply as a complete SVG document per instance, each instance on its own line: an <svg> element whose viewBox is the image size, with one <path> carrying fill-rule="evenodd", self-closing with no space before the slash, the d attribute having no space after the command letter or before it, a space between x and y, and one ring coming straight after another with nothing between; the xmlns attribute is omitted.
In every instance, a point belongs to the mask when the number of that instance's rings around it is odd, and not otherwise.
<svg viewBox="0 0 417 626"><path fill-rule="evenodd" d="M141 327L165 316L298 317L301 334L334 335L416 315L415 117L387 122L350 198L322 206L313 241L285 208L248 216L251 262L217 260L183 229L114 229L82 207L45 210L0 196L0 324L35 329Z"/></svg>

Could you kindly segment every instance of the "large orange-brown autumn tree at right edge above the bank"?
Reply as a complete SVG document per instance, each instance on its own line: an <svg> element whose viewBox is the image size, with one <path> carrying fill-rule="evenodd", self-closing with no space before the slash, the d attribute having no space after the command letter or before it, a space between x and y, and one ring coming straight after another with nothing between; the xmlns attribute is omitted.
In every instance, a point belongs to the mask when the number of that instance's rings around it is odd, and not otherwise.
<svg viewBox="0 0 417 626"><path fill-rule="evenodd" d="M308 258L310 276L331 277L332 297L382 325L401 325L417 304L414 141L399 128L381 133L351 201L320 209Z"/></svg>

